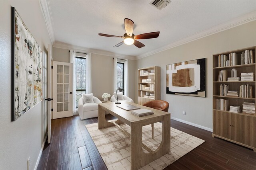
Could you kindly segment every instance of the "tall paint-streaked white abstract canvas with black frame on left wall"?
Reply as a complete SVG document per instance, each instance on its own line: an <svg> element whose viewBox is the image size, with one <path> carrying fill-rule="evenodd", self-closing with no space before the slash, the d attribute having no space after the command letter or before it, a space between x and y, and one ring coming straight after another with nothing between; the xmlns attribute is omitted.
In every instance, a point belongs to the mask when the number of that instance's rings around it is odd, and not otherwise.
<svg viewBox="0 0 256 170"><path fill-rule="evenodd" d="M12 121L42 100L42 50L12 7Z"/></svg>

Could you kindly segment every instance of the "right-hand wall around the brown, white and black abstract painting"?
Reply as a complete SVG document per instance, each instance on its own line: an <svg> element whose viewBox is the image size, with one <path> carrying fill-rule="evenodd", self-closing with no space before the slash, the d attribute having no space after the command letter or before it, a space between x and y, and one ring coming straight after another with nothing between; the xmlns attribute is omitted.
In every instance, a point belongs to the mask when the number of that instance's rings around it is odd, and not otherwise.
<svg viewBox="0 0 256 170"><path fill-rule="evenodd" d="M160 66L161 99L169 102L171 117L212 129L212 55L256 46L255 30L256 21L252 21L139 59L136 68ZM166 64L201 58L206 58L206 98L166 94ZM136 79L134 86L137 87ZM136 88L135 95L137 94ZM137 100L136 98L136 102ZM186 111L186 115L182 111Z"/></svg>

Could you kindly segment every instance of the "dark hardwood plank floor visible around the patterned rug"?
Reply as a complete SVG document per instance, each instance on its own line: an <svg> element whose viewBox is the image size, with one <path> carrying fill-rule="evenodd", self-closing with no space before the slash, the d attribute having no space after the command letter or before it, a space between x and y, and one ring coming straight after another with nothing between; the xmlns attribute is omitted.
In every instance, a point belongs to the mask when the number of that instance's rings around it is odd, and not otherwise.
<svg viewBox="0 0 256 170"><path fill-rule="evenodd" d="M107 119L114 119L106 115ZM81 120L79 115L52 120L51 144L47 141L37 170L106 170L84 125L97 118ZM171 127L205 140L165 170L256 170L256 153L240 145L213 138L203 129L171 120Z"/></svg>

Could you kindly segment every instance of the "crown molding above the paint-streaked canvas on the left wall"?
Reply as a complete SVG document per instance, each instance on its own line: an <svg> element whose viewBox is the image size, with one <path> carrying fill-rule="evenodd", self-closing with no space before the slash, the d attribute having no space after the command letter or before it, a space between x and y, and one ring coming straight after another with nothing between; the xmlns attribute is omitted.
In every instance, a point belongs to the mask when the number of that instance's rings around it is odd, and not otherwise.
<svg viewBox="0 0 256 170"><path fill-rule="evenodd" d="M52 41L52 44L55 42L54 37L54 23L52 20L52 12L50 8L50 2L49 0L39 0L39 4L41 6L41 10L44 16L44 20L48 29L48 33L50 35L50 39Z"/></svg>

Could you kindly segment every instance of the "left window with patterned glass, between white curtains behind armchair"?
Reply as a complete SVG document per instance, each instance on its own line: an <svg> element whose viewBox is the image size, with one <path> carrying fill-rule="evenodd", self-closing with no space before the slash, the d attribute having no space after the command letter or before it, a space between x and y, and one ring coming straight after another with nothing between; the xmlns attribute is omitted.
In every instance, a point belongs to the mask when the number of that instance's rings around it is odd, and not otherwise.
<svg viewBox="0 0 256 170"><path fill-rule="evenodd" d="M76 57L76 108L86 88L86 58Z"/></svg>

